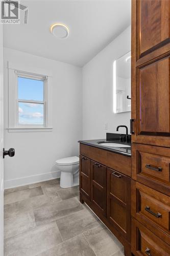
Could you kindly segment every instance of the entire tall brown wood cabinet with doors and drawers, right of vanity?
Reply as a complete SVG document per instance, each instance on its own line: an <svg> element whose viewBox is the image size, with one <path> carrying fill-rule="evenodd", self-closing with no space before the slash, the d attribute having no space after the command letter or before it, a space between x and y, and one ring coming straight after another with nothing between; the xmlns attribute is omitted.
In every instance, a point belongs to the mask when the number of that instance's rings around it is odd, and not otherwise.
<svg viewBox="0 0 170 256"><path fill-rule="evenodd" d="M132 0L132 253L170 255L170 1Z"/></svg>

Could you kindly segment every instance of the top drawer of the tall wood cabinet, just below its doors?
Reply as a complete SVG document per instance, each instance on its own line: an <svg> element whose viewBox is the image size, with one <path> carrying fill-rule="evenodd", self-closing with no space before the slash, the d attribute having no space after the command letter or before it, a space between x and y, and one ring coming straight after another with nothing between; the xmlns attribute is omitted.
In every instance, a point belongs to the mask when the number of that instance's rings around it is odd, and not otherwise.
<svg viewBox="0 0 170 256"><path fill-rule="evenodd" d="M132 143L132 178L170 196L170 148Z"/></svg>

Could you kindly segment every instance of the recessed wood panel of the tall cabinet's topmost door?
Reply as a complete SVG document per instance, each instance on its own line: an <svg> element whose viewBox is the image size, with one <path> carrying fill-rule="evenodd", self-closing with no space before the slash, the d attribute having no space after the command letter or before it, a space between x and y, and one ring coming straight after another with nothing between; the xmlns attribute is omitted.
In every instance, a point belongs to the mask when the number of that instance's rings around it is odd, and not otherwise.
<svg viewBox="0 0 170 256"><path fill-rule="evenodd" d="M140 0L139 17L139 57L164 46L169 38L169 1Z"/></svg>

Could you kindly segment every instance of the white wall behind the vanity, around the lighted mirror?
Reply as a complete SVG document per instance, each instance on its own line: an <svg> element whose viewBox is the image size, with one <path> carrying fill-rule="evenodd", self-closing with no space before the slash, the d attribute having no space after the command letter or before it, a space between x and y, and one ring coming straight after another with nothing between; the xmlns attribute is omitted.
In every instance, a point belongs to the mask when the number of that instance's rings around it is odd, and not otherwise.
<svg viewBox="0 0 170 256"><path fill-rule="evenodd" d="M130 112L113 113L113 61L130 49L131 27L128 27L83 67L83 139L105 138L106 132L116 133L119 124L129 127ZM119 133L125 133L125 129Z"/></svg>

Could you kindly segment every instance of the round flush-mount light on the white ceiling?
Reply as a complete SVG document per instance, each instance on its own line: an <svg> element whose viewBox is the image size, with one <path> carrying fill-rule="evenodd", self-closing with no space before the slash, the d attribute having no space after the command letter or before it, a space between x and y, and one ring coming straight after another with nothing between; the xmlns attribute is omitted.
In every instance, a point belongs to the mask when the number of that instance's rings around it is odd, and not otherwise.
<svg viewBox="0 0 170 256"><path fill-rule="evenodd" d="M61 23L53 24L50 27L50 31L55 37L57 37L59 39L66 38L66 37L68 37L68 34L69 34L69 30L68 30L67 26L65 26L64 24L61 24Z"/></svg>

